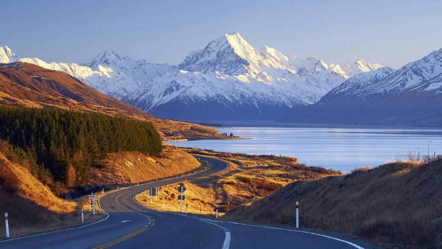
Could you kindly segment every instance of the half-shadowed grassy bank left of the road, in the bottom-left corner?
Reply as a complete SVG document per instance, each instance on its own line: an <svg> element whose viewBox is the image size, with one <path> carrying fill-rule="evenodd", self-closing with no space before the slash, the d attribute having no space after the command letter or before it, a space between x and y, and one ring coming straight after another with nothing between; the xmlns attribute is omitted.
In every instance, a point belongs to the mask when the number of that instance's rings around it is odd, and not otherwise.
<svg viewBox="0 0 442 249"><path fill-rule="evenodd" d="M0 213L8 213L10 236L22 236L81 224L83 199L56 197L39 182L17 156L4 148L0 151ZM85 211L85 223L102 218ZM4 224L0 239L5 238Z"/></svg>

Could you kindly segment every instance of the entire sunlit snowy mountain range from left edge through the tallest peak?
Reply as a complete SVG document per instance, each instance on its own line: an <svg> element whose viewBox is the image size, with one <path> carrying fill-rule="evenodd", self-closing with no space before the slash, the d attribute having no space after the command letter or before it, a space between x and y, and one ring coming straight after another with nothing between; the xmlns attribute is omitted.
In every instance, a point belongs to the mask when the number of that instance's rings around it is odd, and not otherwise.
<svg viewBox="0 0 442 249"><path fill-rule="evenodd" d="M226 33L177 65L133 60L113 51L87 63L46 63L0 47L0 63L22 61L63 71L94 89L158 117L187 120L274 120L313 104L346 79L382 68L357 60L340 66L256 49Z"/></svg>

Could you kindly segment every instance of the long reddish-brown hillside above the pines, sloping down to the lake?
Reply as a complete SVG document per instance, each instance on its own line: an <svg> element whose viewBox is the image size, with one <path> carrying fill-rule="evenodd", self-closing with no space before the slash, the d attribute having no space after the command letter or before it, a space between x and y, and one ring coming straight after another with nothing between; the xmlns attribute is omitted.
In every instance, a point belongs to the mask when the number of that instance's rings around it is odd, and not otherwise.
<svg viewBox="0 0 442 249"><path fill-rule="evenodd" d="M157 118L102 94L75 77L25 62L0 64L0 103L36 108L68 108L152 122L164 140L237 138L213 133L210 128L210 132L204 129L191 130L191 123Z"/></svg>

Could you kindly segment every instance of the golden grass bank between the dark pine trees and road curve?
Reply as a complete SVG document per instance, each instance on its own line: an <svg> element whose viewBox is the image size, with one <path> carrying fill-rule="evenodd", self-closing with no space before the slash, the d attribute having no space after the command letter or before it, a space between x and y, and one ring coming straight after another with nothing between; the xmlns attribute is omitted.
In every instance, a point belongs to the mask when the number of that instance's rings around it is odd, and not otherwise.
<svg viewBox="0 0 442 249"><path fill-rule="evenodd" d="M198 168L200 163L192 155L171 145L163 145L159 157L138 151L110 153L92 168L88 184L116 184L148 181Z"/></svg>

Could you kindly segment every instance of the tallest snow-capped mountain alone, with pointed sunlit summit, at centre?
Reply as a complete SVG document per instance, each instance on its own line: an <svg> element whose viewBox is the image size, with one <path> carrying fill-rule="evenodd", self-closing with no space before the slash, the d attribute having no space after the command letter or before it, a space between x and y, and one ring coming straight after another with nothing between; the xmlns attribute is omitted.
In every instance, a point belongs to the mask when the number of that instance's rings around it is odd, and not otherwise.
<svg viewBox="0 0 442 249"><path fill-rule="evenodd" d="M270 120L318 101L348 78L321 60L253 48L238 32L191 52L177 68L123 100L164 118Z"/></svg>

